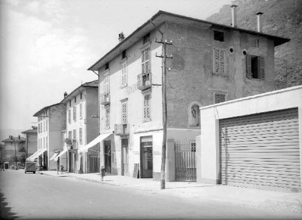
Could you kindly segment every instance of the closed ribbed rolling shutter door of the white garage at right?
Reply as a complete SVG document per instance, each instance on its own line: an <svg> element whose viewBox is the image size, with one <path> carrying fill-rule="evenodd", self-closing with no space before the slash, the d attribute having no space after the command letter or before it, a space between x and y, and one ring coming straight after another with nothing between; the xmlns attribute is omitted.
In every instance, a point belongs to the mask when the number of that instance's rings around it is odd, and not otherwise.
<svg viewBox="0 0 302 220"><path fill-rule="evenodd" d="M219 135L221 184L300 190L297 108L221 119Z"/></svg>

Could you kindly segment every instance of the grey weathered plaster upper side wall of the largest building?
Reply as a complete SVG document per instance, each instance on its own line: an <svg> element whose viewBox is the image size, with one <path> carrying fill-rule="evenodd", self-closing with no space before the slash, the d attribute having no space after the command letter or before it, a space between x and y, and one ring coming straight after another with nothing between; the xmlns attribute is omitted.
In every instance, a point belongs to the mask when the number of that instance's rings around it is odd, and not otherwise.
<svg viewBox="0 0 302 220"><path fill-rule="evenodd" d="M273 41L259 38L259 48L249 46L248 34L225 31L224 41L214 40L212 28L196 28L167 23L167 46L173 59L167 60L168 127L190 128L189 115L192 103L206 106L214 103L214 93L226 95L226 101L274 90ZM250 35L251 36L251 35ZM225 76L212 75L213 47L226 51ZM234 52L230 51L233 47ZM246 57L243 50L265 56L265 79L246 78Z"/></svg>

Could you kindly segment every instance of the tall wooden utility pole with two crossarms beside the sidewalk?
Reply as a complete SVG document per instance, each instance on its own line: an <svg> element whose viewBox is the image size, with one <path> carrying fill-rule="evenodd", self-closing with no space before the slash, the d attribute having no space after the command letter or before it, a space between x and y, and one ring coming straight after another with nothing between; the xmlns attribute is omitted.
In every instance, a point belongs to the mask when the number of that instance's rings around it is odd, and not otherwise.
<svg viewBox="0 0 302 220"><path fill-rule="evenodd" d="M163 41L157 41L155 39L156 43L161 43L163 45L162 47L162 53L161 55L155 55L156 57L161 57L163 59L163 66L162 66L162 95L163 95L163 145L162 145L162 168L161 168L161 189L166 188L166 180L165 180L165 169L166 169L166 149L167 149L167 67L166 67L166 61L168 59L172 59L172 55L167 55L167 44L172 45L172 41L170 43L167 42L167 40Z"/></svg>

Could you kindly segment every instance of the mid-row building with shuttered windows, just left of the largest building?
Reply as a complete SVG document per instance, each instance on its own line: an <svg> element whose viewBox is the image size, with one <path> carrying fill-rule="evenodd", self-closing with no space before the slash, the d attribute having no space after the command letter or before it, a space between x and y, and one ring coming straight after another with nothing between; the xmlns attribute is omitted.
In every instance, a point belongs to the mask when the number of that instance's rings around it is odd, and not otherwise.
<svg viewBox="0 0 302 220"><path fill-rule="evenodd" d="M61 101L66 105L67 170L74 173L99 172L99 150L78 152L99 134L98 81L84 83Z"/></svg>

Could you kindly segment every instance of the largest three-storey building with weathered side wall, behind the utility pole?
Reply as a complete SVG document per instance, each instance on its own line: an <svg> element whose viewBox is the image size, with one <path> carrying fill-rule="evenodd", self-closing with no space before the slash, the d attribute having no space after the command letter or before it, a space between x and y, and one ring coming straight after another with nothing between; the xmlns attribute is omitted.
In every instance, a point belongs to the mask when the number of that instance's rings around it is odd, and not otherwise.
<svg viewBox="0 0 302 220"><path fill-rule="evenodd" d="M160 179L162 59L156 54L163 48L155 38L173 42L167 46L173 59L167 59L166 172L174 181L174 141L194 145L199 107L274 90L274 47L289 39L238 28L236 21L225 26L163 11L125 39L121 33L89 68L99 75L98 141L107 172L132 176L138 164L139 177Z"/></svg>

